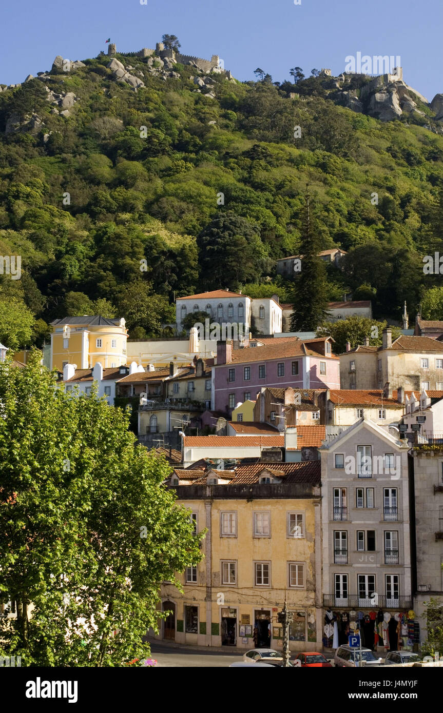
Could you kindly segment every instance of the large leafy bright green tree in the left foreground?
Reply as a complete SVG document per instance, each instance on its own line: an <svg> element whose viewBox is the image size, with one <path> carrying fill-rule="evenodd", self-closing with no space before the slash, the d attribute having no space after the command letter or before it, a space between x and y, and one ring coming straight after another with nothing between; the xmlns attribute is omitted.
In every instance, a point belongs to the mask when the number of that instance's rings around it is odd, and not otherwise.
<svg viewBox="0 0 443 713"><path fill-rule="evenodd" d="M161 582L198 563L198 538L125 412L65 394L40 358L0 364L0 600L18 613L0 655L121 666L149 654Z"/></svg>

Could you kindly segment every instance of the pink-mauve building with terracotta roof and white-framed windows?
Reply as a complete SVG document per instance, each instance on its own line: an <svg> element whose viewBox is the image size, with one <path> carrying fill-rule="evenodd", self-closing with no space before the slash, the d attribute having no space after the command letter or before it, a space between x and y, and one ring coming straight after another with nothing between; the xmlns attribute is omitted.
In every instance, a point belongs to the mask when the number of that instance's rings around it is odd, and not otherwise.
<svg viewBox="0 0 443 713"><path fill-rule="evenodd" d="M212 408L231 414L236 404L256 399L262 386L340 389L340 359L331 337L233 350L217 344Z"/></svg>

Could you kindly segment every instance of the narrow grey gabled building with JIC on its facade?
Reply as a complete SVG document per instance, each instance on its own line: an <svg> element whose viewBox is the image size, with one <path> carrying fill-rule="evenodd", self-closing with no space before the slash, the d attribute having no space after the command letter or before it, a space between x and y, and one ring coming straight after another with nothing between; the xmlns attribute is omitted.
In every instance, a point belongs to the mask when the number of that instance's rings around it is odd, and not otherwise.
<svg viewBox="0 0 443 713"><path fill-rule="evenodd" d="M320 448L325 610L390 620L411 608L408 448L369 419ZM372 648L374 621L363 632Z"/></svg>

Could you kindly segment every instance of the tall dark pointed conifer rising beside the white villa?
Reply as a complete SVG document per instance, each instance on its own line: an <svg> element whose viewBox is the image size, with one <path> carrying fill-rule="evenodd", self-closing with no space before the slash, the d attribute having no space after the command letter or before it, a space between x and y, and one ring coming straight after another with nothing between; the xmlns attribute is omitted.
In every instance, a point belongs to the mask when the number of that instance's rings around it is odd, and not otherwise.
<svg viewBox="0 0 443 713"><path fill-rule="evenodd" d="M315 331L327 312L327 283L325 263L318 257L320 235L310 210L309 189L306 187L305 213L300 242L301 270L293 273L290 295L294 311L291 317L292 332Z"/></svg>

